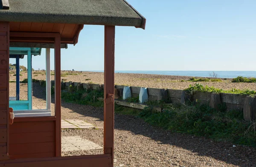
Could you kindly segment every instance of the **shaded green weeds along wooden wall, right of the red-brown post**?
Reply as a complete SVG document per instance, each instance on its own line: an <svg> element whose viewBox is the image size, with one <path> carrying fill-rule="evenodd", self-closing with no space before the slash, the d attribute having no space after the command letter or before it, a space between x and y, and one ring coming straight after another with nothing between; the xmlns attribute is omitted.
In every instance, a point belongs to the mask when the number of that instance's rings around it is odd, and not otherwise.
<svg viewBox="0 0 256 167"><path fill-rule="evenodd" d="M224 105L223 105L224 106ZM243 121L243 112L221 111L206 105L169 105L163 112L132 109L116 105L115 112L134 115L145 122L172 132L204 136L216 141L230 141L256 147L256 122Z"/></svg>

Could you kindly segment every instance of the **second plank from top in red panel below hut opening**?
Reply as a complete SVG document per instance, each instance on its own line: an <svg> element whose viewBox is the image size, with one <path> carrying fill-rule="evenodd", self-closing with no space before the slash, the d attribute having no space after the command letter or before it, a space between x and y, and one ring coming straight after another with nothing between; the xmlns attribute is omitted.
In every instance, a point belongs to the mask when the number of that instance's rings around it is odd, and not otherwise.
<svg viewBox="0 0 256 167"><path fill-rule="evenodd" d="M54 142L55 133L52 132L32 132L32 133L12 133L10 134L10 144L43 143Z"/></svg>

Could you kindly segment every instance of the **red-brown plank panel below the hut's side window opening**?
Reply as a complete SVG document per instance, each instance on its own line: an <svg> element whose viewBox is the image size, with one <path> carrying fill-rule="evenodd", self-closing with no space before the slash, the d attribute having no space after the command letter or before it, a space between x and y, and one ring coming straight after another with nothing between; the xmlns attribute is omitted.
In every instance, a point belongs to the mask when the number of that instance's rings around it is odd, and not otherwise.
<svg viewBox="0 0 256 167"><path fill-rule="evenodd" d="M55 156L55 121L14 122L9 135L11 159Z"/></svg>

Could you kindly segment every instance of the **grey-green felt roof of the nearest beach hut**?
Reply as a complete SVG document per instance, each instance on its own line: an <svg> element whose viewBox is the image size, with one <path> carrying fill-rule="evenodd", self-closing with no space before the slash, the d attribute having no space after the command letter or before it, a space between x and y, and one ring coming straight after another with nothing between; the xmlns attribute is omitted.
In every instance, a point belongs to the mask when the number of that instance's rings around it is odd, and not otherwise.
<svg viewBox="0 0 256 167"><path fill-rule="evenodd" d="M125 0L9 0L0 21L135 26L145 18Z"/></svg>

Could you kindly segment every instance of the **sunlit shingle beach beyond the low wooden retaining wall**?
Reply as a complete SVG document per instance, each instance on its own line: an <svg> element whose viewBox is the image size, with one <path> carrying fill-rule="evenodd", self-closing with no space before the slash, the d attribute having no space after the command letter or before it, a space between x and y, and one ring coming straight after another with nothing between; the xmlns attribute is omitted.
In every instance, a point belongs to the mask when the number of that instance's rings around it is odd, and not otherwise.
<svg viewBox="0 0 256 167"><path fill-rule="evenodd" d="M52 74L54 72L52 71ZM69 72L70 74L77 75L65 75L68 71L62 71L63 79L73 82L81 83L104 83L104 73L103 72ZM21 73L20 81L27 78L26 72ZM15 81L16 78L10 74L10 80ZM46 75L43 71L34 71L32 78L38 80L45 80ZM189 84L194 85L195 82L188 81L191 77L186 76L172 76L172 75L149 75L149 74L115 74L115 84L116 85L129 85L129 86L142 86L151 88L169 88L169 89L186 89ZM51 79L54 80L54 75L51 75ZM185 82L180 82L184 80ZM222 80L222 82L199 82L201 84L214 86L215 88L230 90L232 88L236 89L252 89L256 90L256 83L231 83L231 79Z"/></svg>

